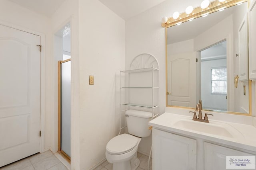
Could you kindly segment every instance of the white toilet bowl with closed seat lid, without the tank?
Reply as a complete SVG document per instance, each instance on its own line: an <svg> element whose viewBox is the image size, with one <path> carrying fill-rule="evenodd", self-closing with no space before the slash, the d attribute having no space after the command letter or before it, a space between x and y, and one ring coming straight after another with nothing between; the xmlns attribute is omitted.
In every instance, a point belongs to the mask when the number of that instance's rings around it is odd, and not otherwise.
<svg viewBox="0 0 256 170"><path fill-rule="evenodd" d="M106 159L113 164L113 170L136 170L140 165L137 150L140 137L122 134L112 138L106 146Z"/></svg>

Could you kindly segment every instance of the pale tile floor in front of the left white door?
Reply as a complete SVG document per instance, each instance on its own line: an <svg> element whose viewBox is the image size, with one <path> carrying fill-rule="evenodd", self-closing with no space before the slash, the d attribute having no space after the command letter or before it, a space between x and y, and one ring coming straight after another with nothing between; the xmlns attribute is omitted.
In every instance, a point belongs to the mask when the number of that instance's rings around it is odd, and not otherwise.
<svg viewBox="0 0 256 170"><path fill-rule="evenodd" d="M12 164L0 168L0 170L68 170L60 160L50 151L34 154Z"/></svg>

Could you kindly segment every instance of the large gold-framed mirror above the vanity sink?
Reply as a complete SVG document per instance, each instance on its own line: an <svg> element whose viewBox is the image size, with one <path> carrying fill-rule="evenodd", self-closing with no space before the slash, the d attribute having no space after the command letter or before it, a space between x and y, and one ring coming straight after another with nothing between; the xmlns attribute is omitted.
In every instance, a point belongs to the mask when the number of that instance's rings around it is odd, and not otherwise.
<svg viewBox="0 0 256 170"><path fill-rule="evenodd" d="M242 2L166 28L166 106L194 108L202 100L204 110L250 115L248 2Z"/></svg>

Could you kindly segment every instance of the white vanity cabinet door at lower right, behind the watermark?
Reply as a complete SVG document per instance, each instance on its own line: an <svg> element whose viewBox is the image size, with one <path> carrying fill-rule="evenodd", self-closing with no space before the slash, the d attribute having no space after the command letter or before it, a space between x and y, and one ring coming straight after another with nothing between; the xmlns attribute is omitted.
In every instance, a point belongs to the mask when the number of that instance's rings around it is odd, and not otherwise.
<svg viewBox="0 0 256 170"><path fill-rule="evenodd" d="M246 152L204 143L204 169L226 170L226 156L255 156Z"/></svg>

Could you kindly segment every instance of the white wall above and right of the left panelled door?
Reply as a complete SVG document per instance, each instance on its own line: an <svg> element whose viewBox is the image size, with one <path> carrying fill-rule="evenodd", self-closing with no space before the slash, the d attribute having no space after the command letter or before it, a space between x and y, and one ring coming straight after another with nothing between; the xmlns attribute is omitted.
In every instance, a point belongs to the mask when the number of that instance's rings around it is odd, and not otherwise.
<svg viewBox="0 0 256 170"><path fill-rule="evenodd" d="M51 27L50 27L50 18L42 16L23 8L15 3L10 2L9 0L0 0L0 23L8 25L17 29L23 28L26 31L31 30L32 32L36 31L43 33L45 37L45 46L42 47L44 51L44 62L45 62L45 129L41 129L42 135L45 137L45 149L50 149L50 139L51 139L51 129L48 126L51 120L51 111L50 111L50 79L48 76L51 74L49 71L50 68L50 59L51 59L51 46L52 46L52 37L51 37Z"/></svg>

